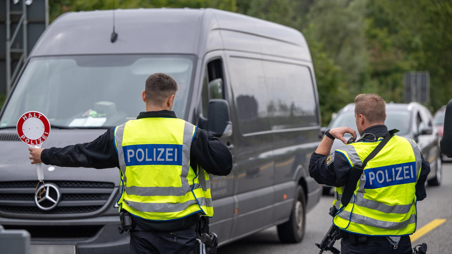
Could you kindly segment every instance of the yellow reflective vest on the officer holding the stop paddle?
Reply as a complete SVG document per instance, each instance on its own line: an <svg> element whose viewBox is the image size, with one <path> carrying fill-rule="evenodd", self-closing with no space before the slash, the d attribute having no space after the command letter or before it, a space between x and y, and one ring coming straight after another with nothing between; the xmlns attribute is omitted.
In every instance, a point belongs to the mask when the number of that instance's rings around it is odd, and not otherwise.
<svg viewBox="0 0 452 254"><path fill-rule="evenodd" d="M196 212L213 216L209 175L190 165L196 128L178 118L141 118L115 127L120 211L152 221Z"/></svg>

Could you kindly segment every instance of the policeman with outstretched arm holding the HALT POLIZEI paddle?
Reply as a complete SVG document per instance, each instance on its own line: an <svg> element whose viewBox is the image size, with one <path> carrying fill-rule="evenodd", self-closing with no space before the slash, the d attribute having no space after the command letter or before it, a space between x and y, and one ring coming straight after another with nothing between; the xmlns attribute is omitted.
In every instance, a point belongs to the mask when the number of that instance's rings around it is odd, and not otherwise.
<svg viewBox="0 0 452 254"><path fill-rule="evenodd" d="M227 175L232 156L208 132L176 118L176 81L155 73L146 80L146 112L96 140L63 148L30 148L32 164L119 168L119 210L129 212L130 252L192 252L200 216L213 216L209 174ZM202 167L202 168L201 168Z"/></svg>

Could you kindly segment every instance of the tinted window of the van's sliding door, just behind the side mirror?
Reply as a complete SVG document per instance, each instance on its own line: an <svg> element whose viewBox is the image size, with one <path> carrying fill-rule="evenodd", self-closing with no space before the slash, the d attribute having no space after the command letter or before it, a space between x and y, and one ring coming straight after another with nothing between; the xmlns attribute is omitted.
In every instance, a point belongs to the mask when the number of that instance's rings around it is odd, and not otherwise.
<svg viewBox="0 0 452 254"><path fill-rule="evenodd" d="M262 61L231 57L231 87L242 134L270 130L268 100Z"/></svg>

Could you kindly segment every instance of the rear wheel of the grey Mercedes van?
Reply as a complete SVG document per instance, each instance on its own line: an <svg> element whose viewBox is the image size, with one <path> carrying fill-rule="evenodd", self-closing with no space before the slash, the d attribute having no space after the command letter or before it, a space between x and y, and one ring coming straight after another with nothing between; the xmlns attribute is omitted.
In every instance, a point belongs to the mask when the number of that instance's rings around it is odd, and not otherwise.
<svg viewBox="0 0 452 254"><path fill-rule="evenodd" d="M278 225L278 236L282 243L299 243L305 235L306 199L303 188L298 185L295 205L289 221Z"/></svg>

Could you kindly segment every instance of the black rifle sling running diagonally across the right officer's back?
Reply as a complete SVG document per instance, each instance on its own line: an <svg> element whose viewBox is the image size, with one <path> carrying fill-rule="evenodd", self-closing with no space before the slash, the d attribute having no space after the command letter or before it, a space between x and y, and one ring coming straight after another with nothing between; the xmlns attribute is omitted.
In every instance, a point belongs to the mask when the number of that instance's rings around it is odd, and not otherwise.
<svg viewBox="0 0 452 254"><path fill-rule="evenodd" d="M381 149L383 149L384 146L389 142L392 136L394 136L394 133L398 132L398 130L391 130L388 132L388 135L386 135L383 140L378 144L377 147L369 154L367 155L366 159L363 161L363 165L354 165L353 168L348 172L348 179L345 183L344 192L342 193L342 198L340 200L341 204L346 207L348 205L348 202L350 202L350 199L352 199L353 193L356 189L356 184L358 183L358 180L361 178L361 175L363 174L363 170L367 165L367 162L369 160L372 160L375 155L377 155Z"/></svg>

